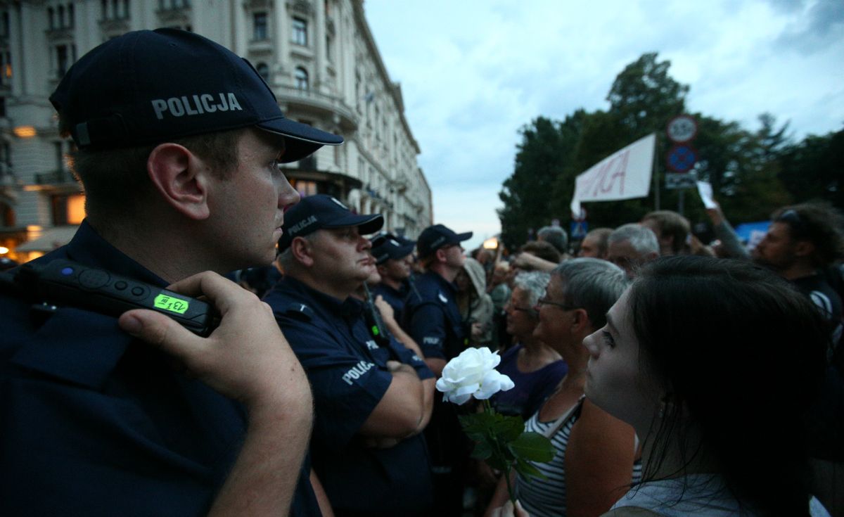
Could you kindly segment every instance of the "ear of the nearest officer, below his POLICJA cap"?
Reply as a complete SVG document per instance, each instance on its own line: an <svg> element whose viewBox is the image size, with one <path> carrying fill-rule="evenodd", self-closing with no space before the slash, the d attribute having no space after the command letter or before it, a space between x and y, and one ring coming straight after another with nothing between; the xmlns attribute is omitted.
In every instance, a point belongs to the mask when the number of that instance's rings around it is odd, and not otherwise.
<svg viewBox="0 0 844 517"><path fill-rule="evenodd" d="M179 144L160 144L147 159L149 179L161 197L194 220L207 219L209 215L209 171L201 158Z"/></svg>

